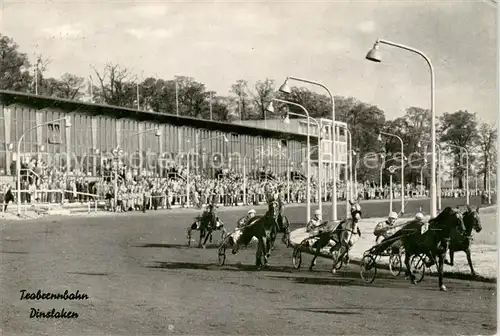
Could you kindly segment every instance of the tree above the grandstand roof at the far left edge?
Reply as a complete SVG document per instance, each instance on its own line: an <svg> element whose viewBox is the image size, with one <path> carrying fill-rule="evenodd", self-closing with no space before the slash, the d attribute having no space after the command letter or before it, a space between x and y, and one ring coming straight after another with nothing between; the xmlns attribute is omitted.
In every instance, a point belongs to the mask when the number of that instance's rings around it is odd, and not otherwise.
<svg viewBox="0 0 500 336"><path fill-rule="evenodd" d="M30 62L13 39L0 34L0 89L29 91Z"/></svg>

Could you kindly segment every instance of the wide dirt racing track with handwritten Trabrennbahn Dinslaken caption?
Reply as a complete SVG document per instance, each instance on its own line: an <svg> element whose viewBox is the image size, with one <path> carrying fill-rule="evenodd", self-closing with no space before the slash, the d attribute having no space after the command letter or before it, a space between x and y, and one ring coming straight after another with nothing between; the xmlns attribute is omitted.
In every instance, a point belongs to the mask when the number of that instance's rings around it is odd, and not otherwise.
<svg viewBox="0 0 500 336"><path fill-rule="evenodd" d="M376 205L375 208L380 208ZM366 207L363 209L368 211ZM287 210L294 223L303 209ZM374 211L375 210L370 210ZM386 211L384 211L385 213ZM241 211L221 212L232 229ZM340 215L340 212L339 212ZM376 213L373 214L377 215ZM359 266L333 275L320 260L291 266L281 243L266 270L255 249L227 254L214 244L186 247L193 214L121 214L104 218L13 221L2 226L3 335L305 335L494 334L496 285L426 277L411 285L381 271L365 285ZM85 292L83 301L21 301L20 290ZM30 308L65 308L78 319L30 319Z"/></svg>

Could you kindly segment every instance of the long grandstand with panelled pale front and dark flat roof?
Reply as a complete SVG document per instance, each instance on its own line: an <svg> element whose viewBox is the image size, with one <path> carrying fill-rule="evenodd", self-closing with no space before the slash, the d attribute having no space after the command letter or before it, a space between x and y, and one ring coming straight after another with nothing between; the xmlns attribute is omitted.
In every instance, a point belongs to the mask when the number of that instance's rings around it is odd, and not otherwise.
<svg viewBox="0 0 500 336"><path fill-rule="evenodd" d="M71 127L50 123L62 117L69 117ZM165 170L158 162L187 152L195 157L192 169L219 161L219 167L240 172L266 167L280 174L291 162L305 161L304 134L256 126L0 90L0 176L15 175L17 143L24 133L21 157L41 158L64 172L76 168L86 176L102 175L102 158L118 150L133 156L137 169L160 177ZM312 136L311 145L316 143ZM180 165L186 165L186 157Z"/></svg>

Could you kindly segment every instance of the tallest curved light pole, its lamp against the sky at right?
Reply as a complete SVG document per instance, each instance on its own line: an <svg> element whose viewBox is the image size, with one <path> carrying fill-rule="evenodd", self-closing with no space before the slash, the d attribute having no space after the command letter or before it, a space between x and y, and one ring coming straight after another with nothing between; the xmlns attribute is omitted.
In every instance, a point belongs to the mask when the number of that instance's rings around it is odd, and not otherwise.
<svg viewBox="0 0 500 336"><path fill-rule="evenodd" d="M406 51L410 51L414 54L420 55L425 59L429 70L431 73L431 139L432 139L432 159L431 159L431 217L436 217L436 200L437 200L437 186L436 186L436 111L435 111L435 78L434 78L434 67L432 66L431 60L426 54L420 50L405 46L403 44L398 44L386 40L378 39L373 48L366 54L366 59L373 62L380 62L381 55L379 51L379 44L386 44L392 47L400 48Z"/></svg>

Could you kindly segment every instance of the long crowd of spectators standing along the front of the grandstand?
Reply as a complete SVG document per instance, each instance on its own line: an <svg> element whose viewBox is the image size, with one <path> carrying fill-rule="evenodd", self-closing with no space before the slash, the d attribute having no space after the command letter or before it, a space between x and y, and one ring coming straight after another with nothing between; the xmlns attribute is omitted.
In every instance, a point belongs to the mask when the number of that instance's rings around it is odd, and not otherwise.
<svg viewBox="0 0 500 336"><path fill-rule="evenodd" d="M87 202L101 200L105 208L111 211L126 212L174 206L194 206L201 208L204 204L215 202L223 206L257 205L265 201L266 190L281 188L287 203L304 203L307 195L307 182L303 175L293 174L273 176L265 174L249 174L246 179L237 172L225 169L217 176L188 172L183 167L174 169L167 177L159 177L153 172L127 169L123 165L113 167L108 165L104 176L92 178L79 170L61 172L49 167L42 160L26 160L21 165L21 202L22 203L61 203ZM262 173L262 172L261 172ZM187 183L189 181L189 189ZM15 193L10 184L0 186L0 203L14 201ZM322 185L323 201L331 201L331 182ZM359 200L388 199L388 185L380 187L374 182L358 183L349 187L357 192ZM189 190L189 193L188 193ZM289 194L287 192L289 190ZM344 181L337 184L337 198L345 200L349 191ZM488 195L484 191L470 190L471 196L480 193L483 198ZM189 197L186 195L189 194ZM393 198L401 194L400 185L393 186ZM97 195L97 197L94 197ZM405 197L426 197L428 190L420 186L406 185ZM465 190L442 189L442 197L463 197ZM311 202L316 203L320 195L318 182L311 180ZM356 198L356 197L355 197ZM5 206L6 207L6 206Z"/></svg>

